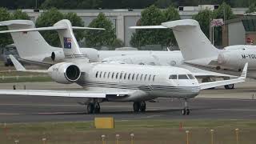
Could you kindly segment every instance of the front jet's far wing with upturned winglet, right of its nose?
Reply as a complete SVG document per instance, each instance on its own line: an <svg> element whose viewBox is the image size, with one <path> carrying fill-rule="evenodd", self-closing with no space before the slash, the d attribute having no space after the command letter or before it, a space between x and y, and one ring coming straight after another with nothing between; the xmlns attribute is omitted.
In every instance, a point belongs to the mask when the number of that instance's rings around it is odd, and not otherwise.
<svg viewBox="0 0 256 144"><path fill-rule="evenodd" d="M235 83L239 83L239 82L245 82L247 68L248 68L248 62L246 62L246 65L244 66L244 68L242 70L242 74L239 78L224 80L224 81L217 81L217 82L200 83L200 90L210 89L212 87L217 87L217 86L226 86L226 85L235 84Z"/></svg>

